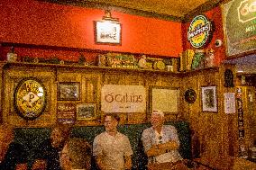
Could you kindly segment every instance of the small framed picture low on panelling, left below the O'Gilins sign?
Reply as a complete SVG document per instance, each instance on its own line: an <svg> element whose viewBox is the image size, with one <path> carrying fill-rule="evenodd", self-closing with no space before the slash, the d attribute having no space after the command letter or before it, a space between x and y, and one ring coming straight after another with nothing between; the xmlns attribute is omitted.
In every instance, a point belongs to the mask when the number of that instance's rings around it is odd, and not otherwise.
<svg viewBox="0 0 256 170"><path fill-rule="evenodd" d="M78 103L77 120L96 119L96 103Z"/></svg>

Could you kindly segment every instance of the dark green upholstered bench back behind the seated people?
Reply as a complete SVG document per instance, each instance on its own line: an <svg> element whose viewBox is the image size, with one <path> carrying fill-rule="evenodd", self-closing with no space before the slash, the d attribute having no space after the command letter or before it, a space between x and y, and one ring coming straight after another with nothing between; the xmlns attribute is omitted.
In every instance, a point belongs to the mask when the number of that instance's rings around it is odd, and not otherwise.
<svg viewBox="0 0 256 170"><path fill-rule="evenodd" d="M187 121L169 121L178 130L180 140L179 152L183 158L191 158L190 130ZM119 125L118 130L127 135L133 148L133 169L146 169L147 157L143 153L141 135L142 130L151 127L150 123ZM96 135L104 131L103 126L74 127L71 130L71 138L82 138L92 145ZM33 148L37 148L44 139L50 138L49 128L18 128L14 130L14 140L23 144L29 152L29 166L33 160ZM95 161L92 161L92 169L96 169Z"/></svg>

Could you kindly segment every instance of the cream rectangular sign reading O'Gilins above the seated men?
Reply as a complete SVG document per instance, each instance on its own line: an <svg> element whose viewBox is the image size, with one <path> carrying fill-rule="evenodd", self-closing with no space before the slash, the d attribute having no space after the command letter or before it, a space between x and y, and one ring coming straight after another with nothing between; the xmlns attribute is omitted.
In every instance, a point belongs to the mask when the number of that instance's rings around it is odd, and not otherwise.
<svg viewBox="0 0 256 170"><path fill-rule="evenodd" d="M101 110L104 112L145 112L146 91L143 85L104 85Z"/></svg>

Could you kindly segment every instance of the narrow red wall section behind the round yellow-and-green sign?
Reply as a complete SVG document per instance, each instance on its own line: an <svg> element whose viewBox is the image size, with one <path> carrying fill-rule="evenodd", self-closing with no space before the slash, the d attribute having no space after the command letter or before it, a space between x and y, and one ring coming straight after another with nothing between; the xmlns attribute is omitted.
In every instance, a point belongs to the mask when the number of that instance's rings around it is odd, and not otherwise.
<svg viewBox="0 0 256 170"><path fill-rule="evenodd" d="M210 41L210 43L207 44L206 47L204 47L203 49L214 49L215 50L215 65L219 65L225 58L224 26L223 26L223 18L222 18L222 9L220 6L218 6L218 7L215 7L214 9L212 9L206 13L203 13L203 14L205 14L211 22L214 22L214 25L215 25L215 31L213 33L213 38ZM182 25L184 50L195 49L191 46L190 42L187 40L187 30L188 30L189 24L190 24L190 22L187 22ZM215 47L215 40L222 40L223 45L221 47Z"/></svg>

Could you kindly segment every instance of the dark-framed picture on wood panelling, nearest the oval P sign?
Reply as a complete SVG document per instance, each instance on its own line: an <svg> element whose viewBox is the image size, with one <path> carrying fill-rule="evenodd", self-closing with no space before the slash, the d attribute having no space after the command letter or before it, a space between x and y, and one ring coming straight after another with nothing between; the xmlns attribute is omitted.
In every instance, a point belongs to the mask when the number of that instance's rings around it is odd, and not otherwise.
<svg viewBox="0 0 256 170"><path fill-rule="evenodd" d="M80 100L80 83L78 83L78 82L59 82L58 100L59 101L78 101L78 100Z"/></svg>

